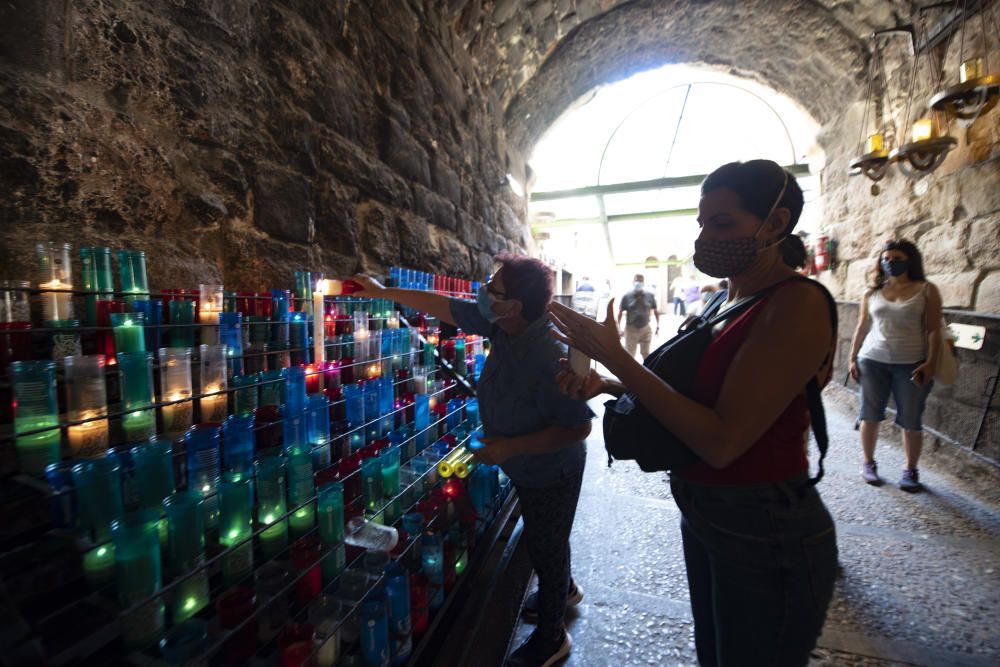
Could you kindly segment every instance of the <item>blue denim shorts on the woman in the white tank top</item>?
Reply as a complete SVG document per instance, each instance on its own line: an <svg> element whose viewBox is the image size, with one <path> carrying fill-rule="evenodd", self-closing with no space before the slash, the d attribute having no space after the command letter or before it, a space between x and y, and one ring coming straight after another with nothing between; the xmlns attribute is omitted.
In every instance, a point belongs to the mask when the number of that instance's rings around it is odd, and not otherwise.
<svg viewBox="0 0 1000 667"><path fill-rule="evenodd" d="M922 363L886 364L864 357L858 359L861 372L861 415L858 418L876 422L885 419L885 406L891 392L896 404L896 424L908 431L923 430L924 406L934 382L920 387L910 379Z"/></svg>

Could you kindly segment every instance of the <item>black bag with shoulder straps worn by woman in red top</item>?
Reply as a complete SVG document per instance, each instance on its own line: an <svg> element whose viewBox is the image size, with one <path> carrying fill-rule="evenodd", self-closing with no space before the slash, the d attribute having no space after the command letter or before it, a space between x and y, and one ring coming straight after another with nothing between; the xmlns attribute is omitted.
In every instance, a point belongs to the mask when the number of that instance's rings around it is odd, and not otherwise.
<svg viewBox="0 0 1000 667"><path fill-rule="evenodd" d="M809 282L816 285L826 297L836 336L837 304L825 287L812 280ZM713 327L746 312L774 287L776 285L747 297L721 313L719 309L725 303L728 294L725 290L716 292L705 304L701 315L686 322L677 336L646 357L643 365L678 392L690 398L694 393L694 383L701 358L712 342ZM824 364L827 361L829 359L824 360ZM823 459L826 457L829 438L820 387L815 377L806 385L806 399L809 403L813 433L816 435L820 451L819 471L816 477L810 480L816 484L823 477ZM609 466L614 459L632 459L639 464L643 472L678 471L700 460L697 454L688 449L677 436L649 413L635 394L626 392L617 399L605 403L604 408L604 446L608 452Z"/></svg>

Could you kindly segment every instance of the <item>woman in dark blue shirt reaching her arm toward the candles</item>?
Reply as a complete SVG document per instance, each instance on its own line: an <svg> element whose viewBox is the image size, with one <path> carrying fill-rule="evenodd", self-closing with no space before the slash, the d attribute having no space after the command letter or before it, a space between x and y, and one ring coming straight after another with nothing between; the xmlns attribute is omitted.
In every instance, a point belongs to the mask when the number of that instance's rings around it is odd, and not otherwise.
<svg viewBox="0 0 1000 667"><path fill-rule="evenodd" d="M552 300L552 272L528 257L501 255L497 261L500 268L475 302L386 288L367 276L354 280L364 287L360 296L391 299L490 338L477 386L486 446L476 457L499 464L517 488L528 555L538 575L538 592L528 596L524 609L526 617L537 619L537 628L508 664L542 667L569 653L563 616L566 607L583 599L570 576L569 535L593 413L556 384L566 349L549 335L545 307Z"/></svg>

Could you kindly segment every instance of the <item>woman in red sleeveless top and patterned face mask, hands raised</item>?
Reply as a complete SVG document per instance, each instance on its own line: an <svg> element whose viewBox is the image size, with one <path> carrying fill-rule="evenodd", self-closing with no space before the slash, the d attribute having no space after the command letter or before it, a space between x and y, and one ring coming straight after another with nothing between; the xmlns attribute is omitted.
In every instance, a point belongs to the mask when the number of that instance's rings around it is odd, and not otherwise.
<svg viewBox="0 0 1000 667"><path fill-rule="evenodd" d="M805 248L795 178L770 160L734 162L701 186L694 263L729 281L689 398L631 359L614 323L549 307L562 338L607 367L563 371L569 395L626 388L701 459L671 474L702 665L805 665L833 593L834 525L808 478L805 387L829 379L835 343L822 286L798 276Z"/></svg>

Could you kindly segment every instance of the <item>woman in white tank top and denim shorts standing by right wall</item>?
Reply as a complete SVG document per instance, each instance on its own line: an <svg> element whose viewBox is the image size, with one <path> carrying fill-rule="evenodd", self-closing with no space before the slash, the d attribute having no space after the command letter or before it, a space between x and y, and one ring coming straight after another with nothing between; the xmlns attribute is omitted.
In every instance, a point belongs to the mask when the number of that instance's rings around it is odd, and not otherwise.
<svg viewBox="0 0 1000 667"><path fill-rule="evenodd" d="M917 461L924 443L922 417L937 364L940 324L941 294L925 278L917 246L889 241L861 301L851 345L851 377L861 383L861 476L869 484L882 483L875 444L892 393L906 453L899 488L921 489Z"/></svg>

